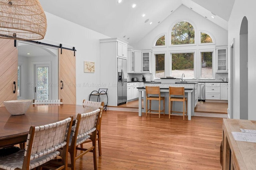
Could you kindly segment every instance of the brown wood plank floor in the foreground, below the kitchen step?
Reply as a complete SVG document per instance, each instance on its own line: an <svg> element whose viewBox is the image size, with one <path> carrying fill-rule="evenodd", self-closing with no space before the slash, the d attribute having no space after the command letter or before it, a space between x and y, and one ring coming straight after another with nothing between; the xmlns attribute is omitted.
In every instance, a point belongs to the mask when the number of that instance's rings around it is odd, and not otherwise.
<svg viewBox="0 0 256 170"><path fill-rule="evenodd" d="M136 112L108 110L102 114L101 133L98 170L221 169L222 118L195 116L187 121L175 115L139 117ZM76 169L92 170L92 153L79 158Z"/></svg>

